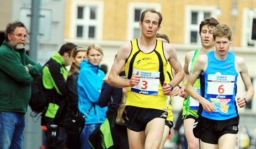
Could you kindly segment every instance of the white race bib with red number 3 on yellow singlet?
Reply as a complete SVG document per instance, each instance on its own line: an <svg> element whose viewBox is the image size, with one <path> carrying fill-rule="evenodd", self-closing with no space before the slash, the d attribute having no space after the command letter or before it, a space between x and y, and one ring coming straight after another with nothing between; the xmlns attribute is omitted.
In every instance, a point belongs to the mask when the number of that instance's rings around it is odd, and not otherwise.
<svg viewBox="0 0 256 149"><path fill-rule="evenodd" d="M133 74L137 71L140 75L139 85L133 86L131 91L145 95L158 95L160 72L133 69Z"/></svg>

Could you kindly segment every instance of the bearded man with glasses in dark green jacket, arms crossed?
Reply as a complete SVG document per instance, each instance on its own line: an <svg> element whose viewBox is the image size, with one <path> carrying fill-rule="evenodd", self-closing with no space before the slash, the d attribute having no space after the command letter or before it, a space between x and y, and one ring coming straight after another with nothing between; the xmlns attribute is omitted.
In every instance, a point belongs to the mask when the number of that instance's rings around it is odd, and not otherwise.
<svg viewBox="0 0 256 149"><path fill-rule="evenodd" d="M0 47L0 147L23 149L25 114L31 83L43 76L40 64L25 52L27 28L20 21L6 26Z"/></svg>

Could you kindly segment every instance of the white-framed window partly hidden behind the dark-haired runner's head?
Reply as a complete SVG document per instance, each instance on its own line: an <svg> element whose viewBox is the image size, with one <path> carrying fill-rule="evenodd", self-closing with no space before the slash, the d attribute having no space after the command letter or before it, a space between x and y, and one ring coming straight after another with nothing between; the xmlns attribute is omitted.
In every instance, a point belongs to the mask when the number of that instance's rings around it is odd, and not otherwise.
<svg viewBox="0 0 256 149"><path fill-rule="evenodd" d="M201 44L199 36L199 25L201 21L214 16L216 7L190 6L186 8L185 43ZM217 18L216 18L217 19Z"/></svg>

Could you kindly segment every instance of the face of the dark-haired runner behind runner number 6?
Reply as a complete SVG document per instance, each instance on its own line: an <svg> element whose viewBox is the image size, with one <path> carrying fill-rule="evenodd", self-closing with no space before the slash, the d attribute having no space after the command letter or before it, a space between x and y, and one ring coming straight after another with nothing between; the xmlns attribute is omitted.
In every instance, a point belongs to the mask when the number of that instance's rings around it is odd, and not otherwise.
<svg viewBox="0 0 256 149"><path fill-rule="evenodd" d="M204 25L201 30L200 38L202 46L205 48L213 47L213 29L208 25Z"/></svg>

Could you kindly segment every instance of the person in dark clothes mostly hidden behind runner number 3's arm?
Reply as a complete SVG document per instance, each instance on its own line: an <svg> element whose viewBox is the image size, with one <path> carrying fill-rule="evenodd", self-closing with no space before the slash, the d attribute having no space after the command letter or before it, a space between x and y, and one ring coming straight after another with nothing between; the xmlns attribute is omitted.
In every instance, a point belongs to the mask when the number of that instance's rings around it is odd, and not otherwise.
<svg viewBox="0 0 256 149"><path fill-rule="evenodd" d="M119 76L125 77L125 72L122 71ZM109 106L107 110L107 119L109 120L114 149L129 149L127 128L124 125L122 126L116 123L117 111L122 101L122 96L123 88L117 88L107 83L103 83L101 95L99 97L99 106Z"/></svg>

